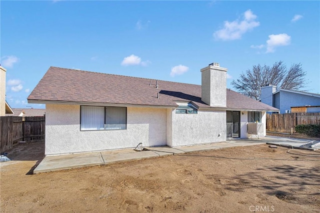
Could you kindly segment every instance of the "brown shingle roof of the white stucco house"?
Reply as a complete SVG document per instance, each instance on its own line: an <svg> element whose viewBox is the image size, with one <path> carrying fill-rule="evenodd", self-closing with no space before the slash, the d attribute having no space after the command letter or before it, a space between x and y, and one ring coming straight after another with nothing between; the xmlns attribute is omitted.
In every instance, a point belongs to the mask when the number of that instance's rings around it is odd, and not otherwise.
<svg viewBox="0 0 320 213"><path fill-rule="evenodd" d="M151 85L149 85L151 82ZM177 101L192 101L213 108L201 100L201 85L50 67L28 96L32 103L124 104L177 107ZM157 98L159 93L159 98ZM278 109L235 91L226 90L231 109Z"/></svg>

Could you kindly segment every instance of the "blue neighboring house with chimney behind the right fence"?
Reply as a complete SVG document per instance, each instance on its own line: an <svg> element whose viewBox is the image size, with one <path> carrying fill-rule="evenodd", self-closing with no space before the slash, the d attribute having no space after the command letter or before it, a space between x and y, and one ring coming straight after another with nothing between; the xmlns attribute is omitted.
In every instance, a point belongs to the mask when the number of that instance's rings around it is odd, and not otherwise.
<svg viewBox="0 0 320 213"><path fill-rule="evenodd" d="M269 84L261 87L260 101L278 108L280 113L287 113L291 111L291 107L295 106L319 106L320 94L281 88L277 89L276 86Z"/></svg>

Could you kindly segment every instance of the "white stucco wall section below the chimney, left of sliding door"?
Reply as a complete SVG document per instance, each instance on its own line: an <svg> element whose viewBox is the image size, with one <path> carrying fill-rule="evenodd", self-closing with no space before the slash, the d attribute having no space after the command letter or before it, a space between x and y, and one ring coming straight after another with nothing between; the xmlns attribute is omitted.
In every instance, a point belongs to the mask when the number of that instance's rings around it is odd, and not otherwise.
<svg viewBox="0 0 320 213"><path fill-rule="evenodd" d="M168 113L170 113L169 110ZM197 114L176 114L175 110L171 110L171 117L172 141L168 144L170 146L226 140L225 111L198 111Z"/></svg>

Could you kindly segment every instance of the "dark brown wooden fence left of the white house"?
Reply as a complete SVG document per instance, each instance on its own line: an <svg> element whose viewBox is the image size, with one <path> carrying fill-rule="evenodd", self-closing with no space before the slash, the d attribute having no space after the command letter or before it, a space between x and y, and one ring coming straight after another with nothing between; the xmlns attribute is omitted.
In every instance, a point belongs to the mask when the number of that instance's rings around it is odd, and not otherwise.
<svg viewBox="0 0 320 213"><path fill-rule="evenodd" d="M0 152L19 141L44 141L45 116L0 116Z"/></svg>

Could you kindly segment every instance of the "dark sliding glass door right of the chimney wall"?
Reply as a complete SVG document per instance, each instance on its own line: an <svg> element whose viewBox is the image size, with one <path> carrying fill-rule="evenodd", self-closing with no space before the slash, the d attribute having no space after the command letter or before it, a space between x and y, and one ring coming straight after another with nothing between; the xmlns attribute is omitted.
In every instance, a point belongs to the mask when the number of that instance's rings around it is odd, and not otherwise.
<svg viewBox="0 0 320 213"><path fill-rule="evenodd" d="M240 111L226 111L226 137L240 137Z"/></svg>

